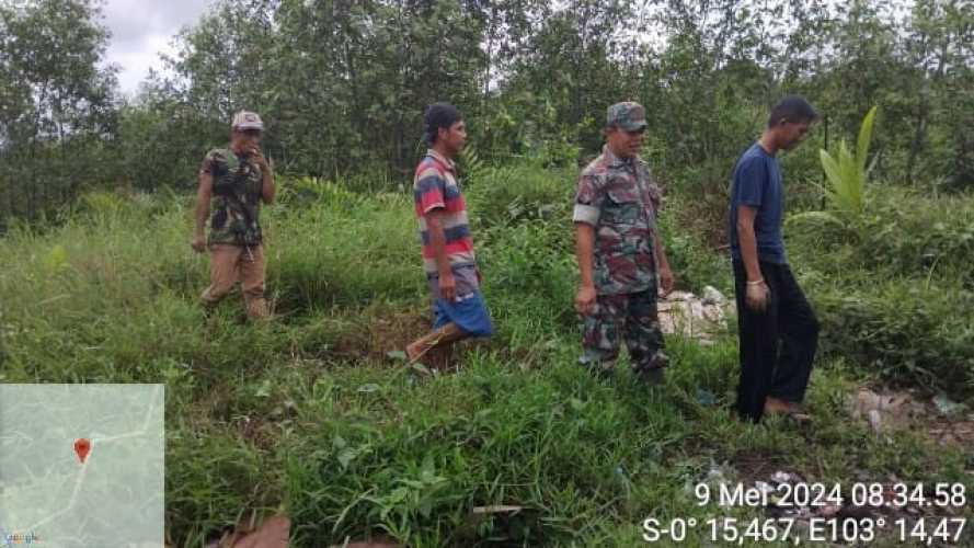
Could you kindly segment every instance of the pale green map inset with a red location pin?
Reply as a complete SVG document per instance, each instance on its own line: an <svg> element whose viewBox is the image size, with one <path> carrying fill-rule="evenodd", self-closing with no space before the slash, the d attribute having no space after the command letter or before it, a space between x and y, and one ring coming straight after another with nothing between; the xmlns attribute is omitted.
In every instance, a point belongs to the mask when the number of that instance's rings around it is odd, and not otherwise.
<svg viewBox="0 0 974 548"><path fill-rule="evenodd" d="M0 385L0 548L162 546L164 408L163 385Z"/></svg>

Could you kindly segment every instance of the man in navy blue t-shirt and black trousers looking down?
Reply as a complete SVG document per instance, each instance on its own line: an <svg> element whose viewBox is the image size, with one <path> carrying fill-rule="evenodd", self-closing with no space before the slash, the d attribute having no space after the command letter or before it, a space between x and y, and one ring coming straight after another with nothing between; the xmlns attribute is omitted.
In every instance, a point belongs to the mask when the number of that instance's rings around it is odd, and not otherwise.
<svg viewBox="0 0 974 548"><path fill-rule="evenodd" d="M815 359L818 321L788 266L777 155L801 144L817 118L804 98L784 98L734 167L727 228L741 342L737 412L752 421L764 413L803 416L799 404Z"/></svg>

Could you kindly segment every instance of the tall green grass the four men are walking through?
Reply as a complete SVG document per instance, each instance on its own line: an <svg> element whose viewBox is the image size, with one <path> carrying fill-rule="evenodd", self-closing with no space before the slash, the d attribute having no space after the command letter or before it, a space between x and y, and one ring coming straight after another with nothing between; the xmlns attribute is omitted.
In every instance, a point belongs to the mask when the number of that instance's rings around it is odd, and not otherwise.
<svg viewBox="0 0 974 548"><path fill-rule="evenodd" d="M624 363L592 378L575 364L570 208L538 207L570 199L573 181L518 169L470 192L472 217L490 212L474 237L499 332L465 344L456 374L417 377L383 358L425 328L408 196L285 181L263 213L282 313L268 324L243 322L239 295L204 320L207 261L190 251L183 198L93 195L56 227L11 231L0 380L165 383L175 546L278 511L296 546L380 534L411 547L638 546L648 517L759 515L697 505L691 486L720 464L734 481L783 469L844 486L972 486L963 450L852 421L845 398L874 374L838 352L813 374L814 429L731 416L730 334L709 346L671 338L663 387ZM501 180L530 186L517 208L502 207L513 191L491 186ZM686 287L730 285L703 243L664 233ZM493 504L524 510L471 513Z"/></svg>

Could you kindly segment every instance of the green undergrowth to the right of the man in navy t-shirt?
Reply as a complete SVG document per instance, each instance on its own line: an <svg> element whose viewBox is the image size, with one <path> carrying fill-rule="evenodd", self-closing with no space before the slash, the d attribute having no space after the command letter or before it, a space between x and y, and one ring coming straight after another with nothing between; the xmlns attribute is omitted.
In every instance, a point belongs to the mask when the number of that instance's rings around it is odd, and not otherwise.
<svg viewBox="0 0 974 548"><path fill-rule="evenodd" d="M974 397L970 196L873 185L847 227L788 224L823 350L884 381Z"/></svg>

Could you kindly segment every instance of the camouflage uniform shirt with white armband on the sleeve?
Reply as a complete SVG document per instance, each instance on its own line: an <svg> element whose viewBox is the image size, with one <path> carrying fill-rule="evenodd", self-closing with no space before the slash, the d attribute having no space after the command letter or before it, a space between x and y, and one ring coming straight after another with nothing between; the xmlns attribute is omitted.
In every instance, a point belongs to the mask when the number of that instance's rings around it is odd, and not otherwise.
<svg viewBox="0 0 974 548"><path fill-rule="evenodd" d="M593 277L599 295L656 287L653 238L660 196L639 157L617 158L606 147L582 171L573 220L595 228Z"/></svg>

